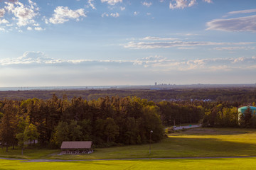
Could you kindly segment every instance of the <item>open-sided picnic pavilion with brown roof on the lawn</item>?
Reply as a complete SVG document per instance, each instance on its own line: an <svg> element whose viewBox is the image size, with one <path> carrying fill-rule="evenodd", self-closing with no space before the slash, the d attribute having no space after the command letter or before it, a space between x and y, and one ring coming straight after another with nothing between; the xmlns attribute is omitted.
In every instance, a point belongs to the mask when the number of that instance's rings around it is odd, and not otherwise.
<svg viewBox="0 0 256 170"><path fill-rule="evenodd" d="M92 141L63 141L60 154L91 154Z"/></svg>

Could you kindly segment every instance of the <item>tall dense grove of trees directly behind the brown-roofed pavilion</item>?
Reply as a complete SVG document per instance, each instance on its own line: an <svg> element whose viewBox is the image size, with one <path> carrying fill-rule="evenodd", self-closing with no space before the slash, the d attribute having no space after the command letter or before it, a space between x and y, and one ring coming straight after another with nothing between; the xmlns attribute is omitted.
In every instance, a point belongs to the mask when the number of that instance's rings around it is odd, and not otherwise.
<svg viewBox="0 0 256 170"><path fill-rule="evenodd" d="M4 100L0 112L0 140L6 147L28 140L50 147L60 147L63 140L134 145L158 142L164 135L159 107L137 97Z"/></svg>

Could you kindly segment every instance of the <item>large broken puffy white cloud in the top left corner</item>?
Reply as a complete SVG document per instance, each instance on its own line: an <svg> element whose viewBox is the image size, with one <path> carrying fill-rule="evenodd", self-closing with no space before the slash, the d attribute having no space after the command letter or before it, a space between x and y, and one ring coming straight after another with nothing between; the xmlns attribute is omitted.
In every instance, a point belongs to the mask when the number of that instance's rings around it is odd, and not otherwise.
<svg viewBox="0 0 256 170"><path fill-rule="evenodd" d="M9 11L14 14L17 19L17 25L27 26L28 24L35 23L33 18L35 18L38 13L38 8L36 8L36 4L31 2L31 6L26 6L21 2L16 1L15 3L5 2L6 6L4 7L6 11Z"/></svg>

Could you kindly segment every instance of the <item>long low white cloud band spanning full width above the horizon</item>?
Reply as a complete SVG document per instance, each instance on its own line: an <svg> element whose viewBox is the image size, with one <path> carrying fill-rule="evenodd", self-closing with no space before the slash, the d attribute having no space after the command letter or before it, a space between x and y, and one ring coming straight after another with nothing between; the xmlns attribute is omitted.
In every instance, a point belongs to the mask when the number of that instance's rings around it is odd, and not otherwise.
<svg viewBox="0 0 256 170"><path fill-rule="evenodd" d="M21 57L16 59L0 60L1 66L11 67L12 65L36 66L40 64L58 67L127 67L127 70L133 66L142 66L148 69L159 71L168 70L232 70L232 69L252 69L256 68L256 56L253 57L231 57L231 58L205 58L196 60L170 60L167 57L159 55L140 58L137 60L55 60L47 57L43 52L24 52ZM124 69L124 68L123 68Z"/></svg>

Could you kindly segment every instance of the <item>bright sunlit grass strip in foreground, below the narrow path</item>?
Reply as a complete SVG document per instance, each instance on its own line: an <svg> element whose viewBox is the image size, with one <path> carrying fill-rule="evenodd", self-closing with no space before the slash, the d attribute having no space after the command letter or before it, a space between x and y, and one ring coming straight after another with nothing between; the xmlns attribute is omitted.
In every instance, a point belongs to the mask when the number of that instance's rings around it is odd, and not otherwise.
<svg viewBox="0 0 256 170"><path fill-rule="evenodd" d="M45 170L45 169L256 169L256 158L235 159L160 159L160 160L119 160L84 162L21 162L0 159L0 169Z"/></svg>

